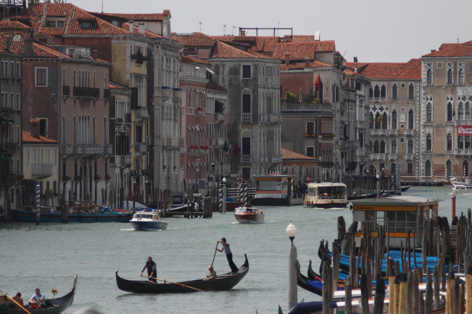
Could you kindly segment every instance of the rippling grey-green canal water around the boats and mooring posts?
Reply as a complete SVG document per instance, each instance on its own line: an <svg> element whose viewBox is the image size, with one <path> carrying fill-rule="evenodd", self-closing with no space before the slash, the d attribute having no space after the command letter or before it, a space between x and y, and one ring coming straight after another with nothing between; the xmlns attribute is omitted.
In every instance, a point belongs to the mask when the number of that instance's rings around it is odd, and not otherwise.
<svg viewBox="0 0 472 314"><path fill-rule="evenodd" d="M411 187L404 195L443 199L439 215L450 217L450 187ZM457 195L457 214L472 207L472 193ZM302 273L308 260L318 272L321 239L337 237L337 217L352 222L349 209L307 209L304 206L262 207L265 224L238 225L232 212L212 218L166 218L168 230L134 231L129 223L10 223L0 224L0 289L21 292L27 301L39 288L47 298L71 288L78 275L74 304L64 313L84 306L103 313L255 313L273 314L278 304L287 313L287 260L290 240L285 229L293 221L294 243ZM133 294L118 290L115 270L126 279L140 280L146 258L157 263L158 277L170 281L204 278L216 241L226 237L237 266L249 259L249 273L232 290L186 294ZM217 252L217 274L230 271L224 253ZM320 297L298 288L299 302Z"/></svg>

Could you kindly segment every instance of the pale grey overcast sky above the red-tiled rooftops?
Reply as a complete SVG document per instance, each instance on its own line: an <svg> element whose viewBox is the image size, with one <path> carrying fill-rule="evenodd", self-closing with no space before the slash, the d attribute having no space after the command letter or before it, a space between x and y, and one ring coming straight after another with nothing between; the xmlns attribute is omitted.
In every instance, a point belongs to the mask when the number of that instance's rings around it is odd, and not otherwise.
<svg viewBox="0 0 472 314"><path fill-rule="evenodd" d="M101 0L67 0L101 12ZM472 1L453 0L103 0L105 13L161 13L169 9L172 32L223 35L237 27L293 27L294 34L336 40L336 49L353 61L406 62L444 42L472 40ZM280 24L278 23L280 22ZM265 33L264 33L265 32ZM246 34L255 35L255 31ZM260 31L259 35L272 35ZM290 34L280 30L279 35ZM277 34L276 34L277 35Z"/></svg>

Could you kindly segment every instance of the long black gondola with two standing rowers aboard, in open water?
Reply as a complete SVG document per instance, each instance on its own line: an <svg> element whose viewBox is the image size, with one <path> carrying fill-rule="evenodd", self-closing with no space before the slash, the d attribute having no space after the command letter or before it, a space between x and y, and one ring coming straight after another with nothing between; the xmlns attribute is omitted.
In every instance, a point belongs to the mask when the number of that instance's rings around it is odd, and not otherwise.
<svg viewBox="0 0 472 314"><path fill-rule="evenodd" d="M249 271L249 262L247 261L247 256L244 254L246 258L244 265L239 267L236 274L227 273L217 276L215 279L212 280L192 280L188 282L178 282L180 284L184 284L186 286L194 287L199 290L204 291L222 291L222 290L230 290L236 284L238 284L241 279ZM138 280L126 280L118 276L118 270L116 271L116 279L117 279L117 286L119 290L127 291L127 292L141 292L141 293L169 293L169 292L195 292L197 290L184 287L177 283L154 283L149 281L138 281Z"/></svg>

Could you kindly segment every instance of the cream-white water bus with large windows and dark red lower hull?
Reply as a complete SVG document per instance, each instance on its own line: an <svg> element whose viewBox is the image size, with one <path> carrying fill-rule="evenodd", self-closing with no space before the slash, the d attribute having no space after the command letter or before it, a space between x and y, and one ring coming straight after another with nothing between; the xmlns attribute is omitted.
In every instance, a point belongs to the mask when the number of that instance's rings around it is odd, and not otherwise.
<svg viewBox="0 0 472 314"><path fill-rule="evenodd" d="M347 207L346 185L337 182L310 183L304 202L309 208Z"/></svg>

